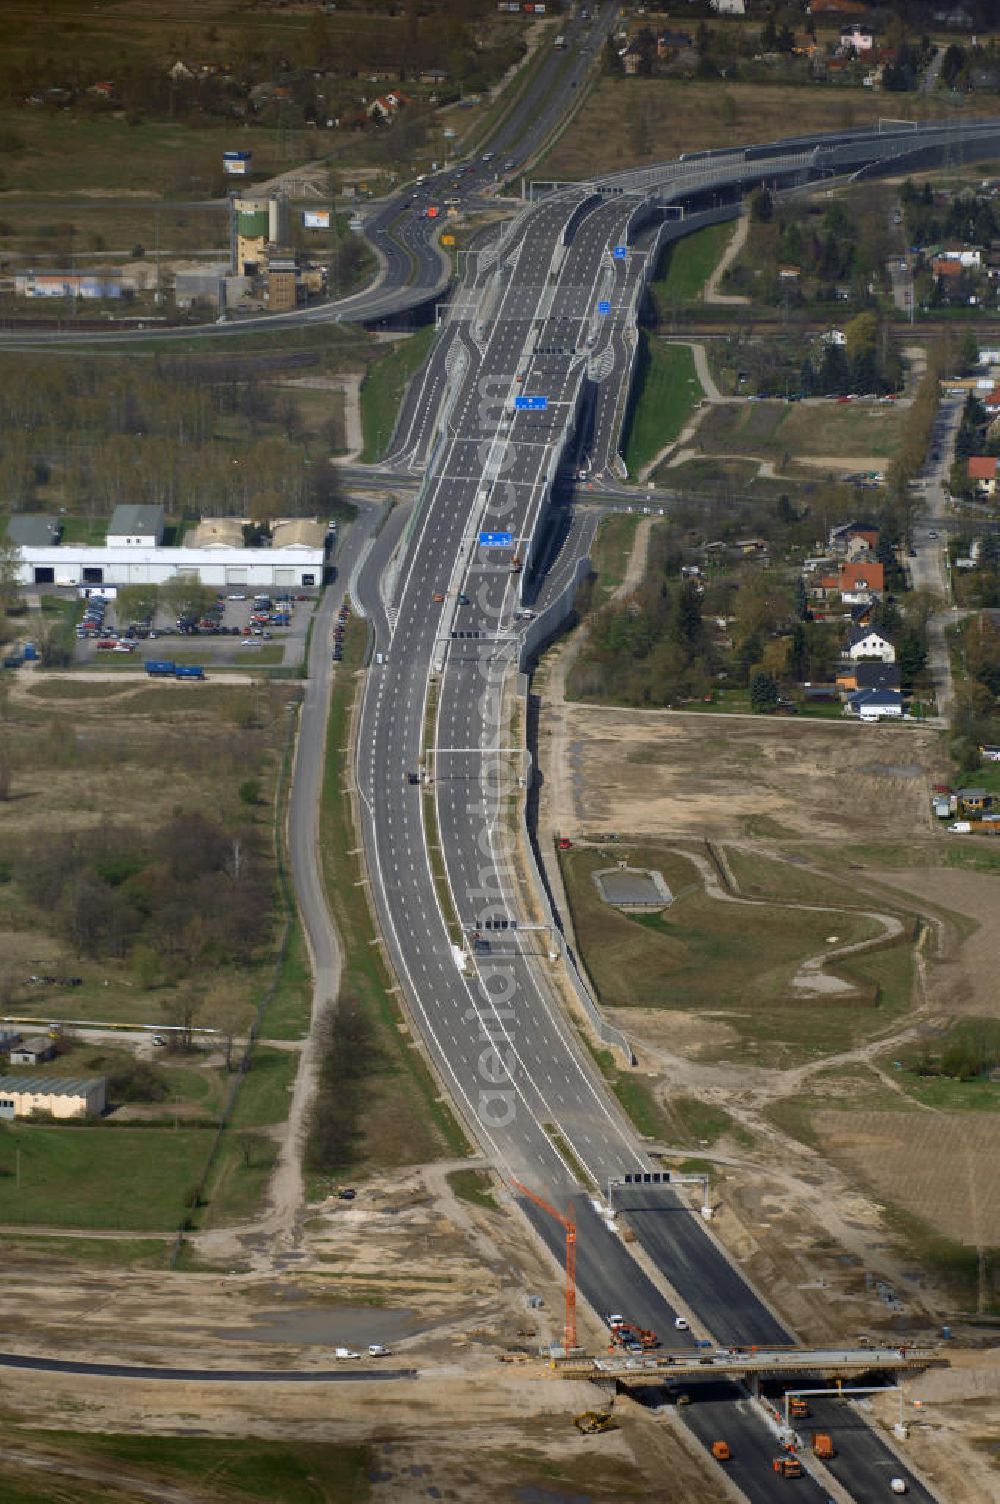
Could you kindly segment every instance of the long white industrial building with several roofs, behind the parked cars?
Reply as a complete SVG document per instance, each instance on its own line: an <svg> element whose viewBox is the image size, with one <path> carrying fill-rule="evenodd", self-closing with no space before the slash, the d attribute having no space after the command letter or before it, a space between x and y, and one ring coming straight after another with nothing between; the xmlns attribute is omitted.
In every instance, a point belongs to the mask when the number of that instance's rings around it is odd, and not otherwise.
<svg viewBox="0 0 1000 1504"><path fill-rule="evenodd" d="M8 538L18 544L21 585L102 587L165 585L177 575L202 585L311 588L323 584L326 528L292 517L274 523L272 543L247 547L244 523L211 519L191 529L182 547L164 547L162 507L120 505L104 544L60 543L59 519L12 517Z"/></svg>

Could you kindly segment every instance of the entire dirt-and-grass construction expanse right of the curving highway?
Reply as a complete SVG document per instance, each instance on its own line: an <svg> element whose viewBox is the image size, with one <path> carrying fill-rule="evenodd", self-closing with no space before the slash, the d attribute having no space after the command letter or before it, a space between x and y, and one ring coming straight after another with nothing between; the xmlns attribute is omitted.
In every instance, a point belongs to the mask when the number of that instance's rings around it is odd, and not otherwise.
<svg viewBox="0 0 1000 1504"><path fill-rule="evenodd" d="M623 1104L665 1163L710 1167L717 1235L803 1340L935 1342L949 1324L992 1396L995 1352L965 1349L982 1336L962 1318L995 1298L976 1244L1000 1232L997 1089L913 1066L955 1020L997 1014L1000 875L950 865L976 853L934 827L940 732L567 702L579 642L537 677L538 829L638 1056ZM618 862L660 871L671 904L602 902L591 869ZM937 1399L907 1417L914 1457L943 1498L985 1504L992 1412L943 1393L940 1417Z"/></svg>

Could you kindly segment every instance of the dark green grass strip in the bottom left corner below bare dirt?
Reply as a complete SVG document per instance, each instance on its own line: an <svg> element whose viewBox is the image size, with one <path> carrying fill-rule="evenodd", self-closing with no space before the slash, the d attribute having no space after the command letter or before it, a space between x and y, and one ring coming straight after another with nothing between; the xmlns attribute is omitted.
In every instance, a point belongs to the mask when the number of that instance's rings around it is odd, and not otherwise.
<svg viewBox="0 0 1000 1504"><path fill-rule="evenodd" d="M367 1447L331 1442L283 1442L208 1436L102 1436L74 1432L18 1430L18 1448L32 1444L51 1462L54 1471L32 1472L5 1459L5 1504L125 1504L158 1496L164 1486L171 1496L188 1489L203 1498L211 1480L211 1496L218 1504L362 1504L368 1498ZM66 1469L60 1477L59 1463ZM90 1489L74 1480L74 1466L89 1466L107 1474L107 1484ZM21 1492L17 1492L21 1489Z"/></svg>

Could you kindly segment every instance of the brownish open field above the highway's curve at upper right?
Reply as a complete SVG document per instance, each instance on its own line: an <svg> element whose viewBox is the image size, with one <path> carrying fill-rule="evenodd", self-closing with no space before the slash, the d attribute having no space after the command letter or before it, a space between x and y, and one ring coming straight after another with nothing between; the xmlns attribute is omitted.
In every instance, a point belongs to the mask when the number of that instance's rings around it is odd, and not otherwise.
<svg viewBox="0 0 1000 1504"><path fill-rule="evenodd" d="M902 116L953 114L946 101L896 95ZM779 84L683 83L672 78L602 78L586 101L586 131L567 131L537 176L588 177L645 167L681 152L734 141L773 141L808 131L869 125L884 101L866 89ZM636 150L636 117L645 120L645 150Z"/></svg>

